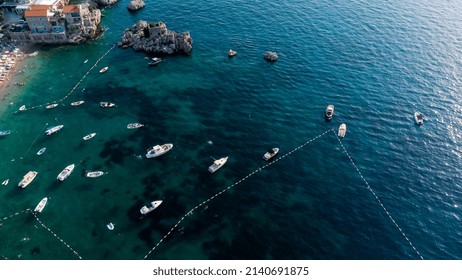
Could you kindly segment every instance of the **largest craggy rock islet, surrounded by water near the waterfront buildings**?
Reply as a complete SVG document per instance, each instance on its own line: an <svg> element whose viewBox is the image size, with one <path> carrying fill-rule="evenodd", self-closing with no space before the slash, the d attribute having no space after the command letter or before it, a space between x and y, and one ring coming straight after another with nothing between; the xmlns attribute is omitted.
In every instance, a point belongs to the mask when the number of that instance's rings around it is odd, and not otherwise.
<svg viewBox="0 0 462 280"><path fill-rule="evenodd" d="M140 20L131 28L125 29L118 45L156 54L189 55L192 51L192 38L189 32L177 33L167 30L167 26L161 21L148 24Z"/></svg>

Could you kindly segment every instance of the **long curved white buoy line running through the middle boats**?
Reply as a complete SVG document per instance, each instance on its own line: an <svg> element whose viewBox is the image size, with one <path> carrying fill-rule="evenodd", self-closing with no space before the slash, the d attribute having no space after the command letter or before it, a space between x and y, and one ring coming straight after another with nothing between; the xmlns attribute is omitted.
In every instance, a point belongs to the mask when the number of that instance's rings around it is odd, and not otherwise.
<svg viewBox="0 0 462 280"><path fill-rule="evenodd" d="M308 145L309 143L315 141L316 139L324 136L326 133L328 133L329 131L331 131L332 129L329 129L329 130L326 130L324 133L321 133L319 134L318 136L306 141L305 143L303 143L302 145L296 147L295 149L293 149L292 151L286 153L285 155L279 157L279 158L276 158L274 161L270 161L269 163L263 165L262 167L259 167L257 169L255 169L253 172L251 172L250 174L248 174L247 176L243 177L242 179L240 179L239 181L235 182L234 184L222 189L221 191L215 193L214 195L212 195L211 197L207 198L206 200L202 201L201 203L199 203L198 205L196 205L195 207L193 207L193 209L191 209L190 211L188 211L185 215L183 215L179 220L178 222L159 240L159 242L157 242L157 244L151 248L151 250L144 256L143 259L146 259L147 257L149 257L149 255L154 252L154 250L157 249L157 247L159 247L159 245L178 227L178 225L188 216L192 215L194 213L194 211L199 208L199 207L202 207L204 204L206 203L209 203L211 200L217 198L218 196L222 195L223 193L225 193L226 191L228 191L229 189L239 185L240 183L244 182L245 180L247 180L249 177L255 175L256 173L262 171L263 169L267 168L268 166L272 165L272 164L275 164L276 162L288 157L289 155L291 155L292 153L298 151L299 149L303 148L304 146Z"/></svg>

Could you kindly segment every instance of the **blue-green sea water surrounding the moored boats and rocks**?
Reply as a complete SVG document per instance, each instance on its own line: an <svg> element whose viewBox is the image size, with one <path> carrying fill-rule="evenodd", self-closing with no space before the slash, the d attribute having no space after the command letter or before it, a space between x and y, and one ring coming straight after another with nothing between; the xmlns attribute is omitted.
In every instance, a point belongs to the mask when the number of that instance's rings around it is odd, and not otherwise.
<svg viewBox="0 0 462 280"><path fill-rule="evenodd" d="M156 1L137 13L127 3L103 11L101 38L41 48L26 62L27 84L1 103L0 130L13 133L0 138L0 180L10 178L0 218L47 196L40 221L83 259L143 259L197 205L149 259L462 258L459 1ZM145 54L114 48L66 106L16 113L66 96L138 19L190 31L192 55L148 68ZM238 56L228 59L229 48ZM266 50L279 61L264 61ZM131 122L147 126L127 130ZM373 192L330 131L233 185L265 164L267 149L282 157L342 122L342 143ZM57 124L62 131L43 136ZM174 148L138 157L162 143ZM222 156L228 163L209 174ZM39 175L19 189L29 170ZM86 170L108 174L91 180ZM164 202L140 219L155 199ZM30 214L0 223L4 257L77 259Z"/></svg>

